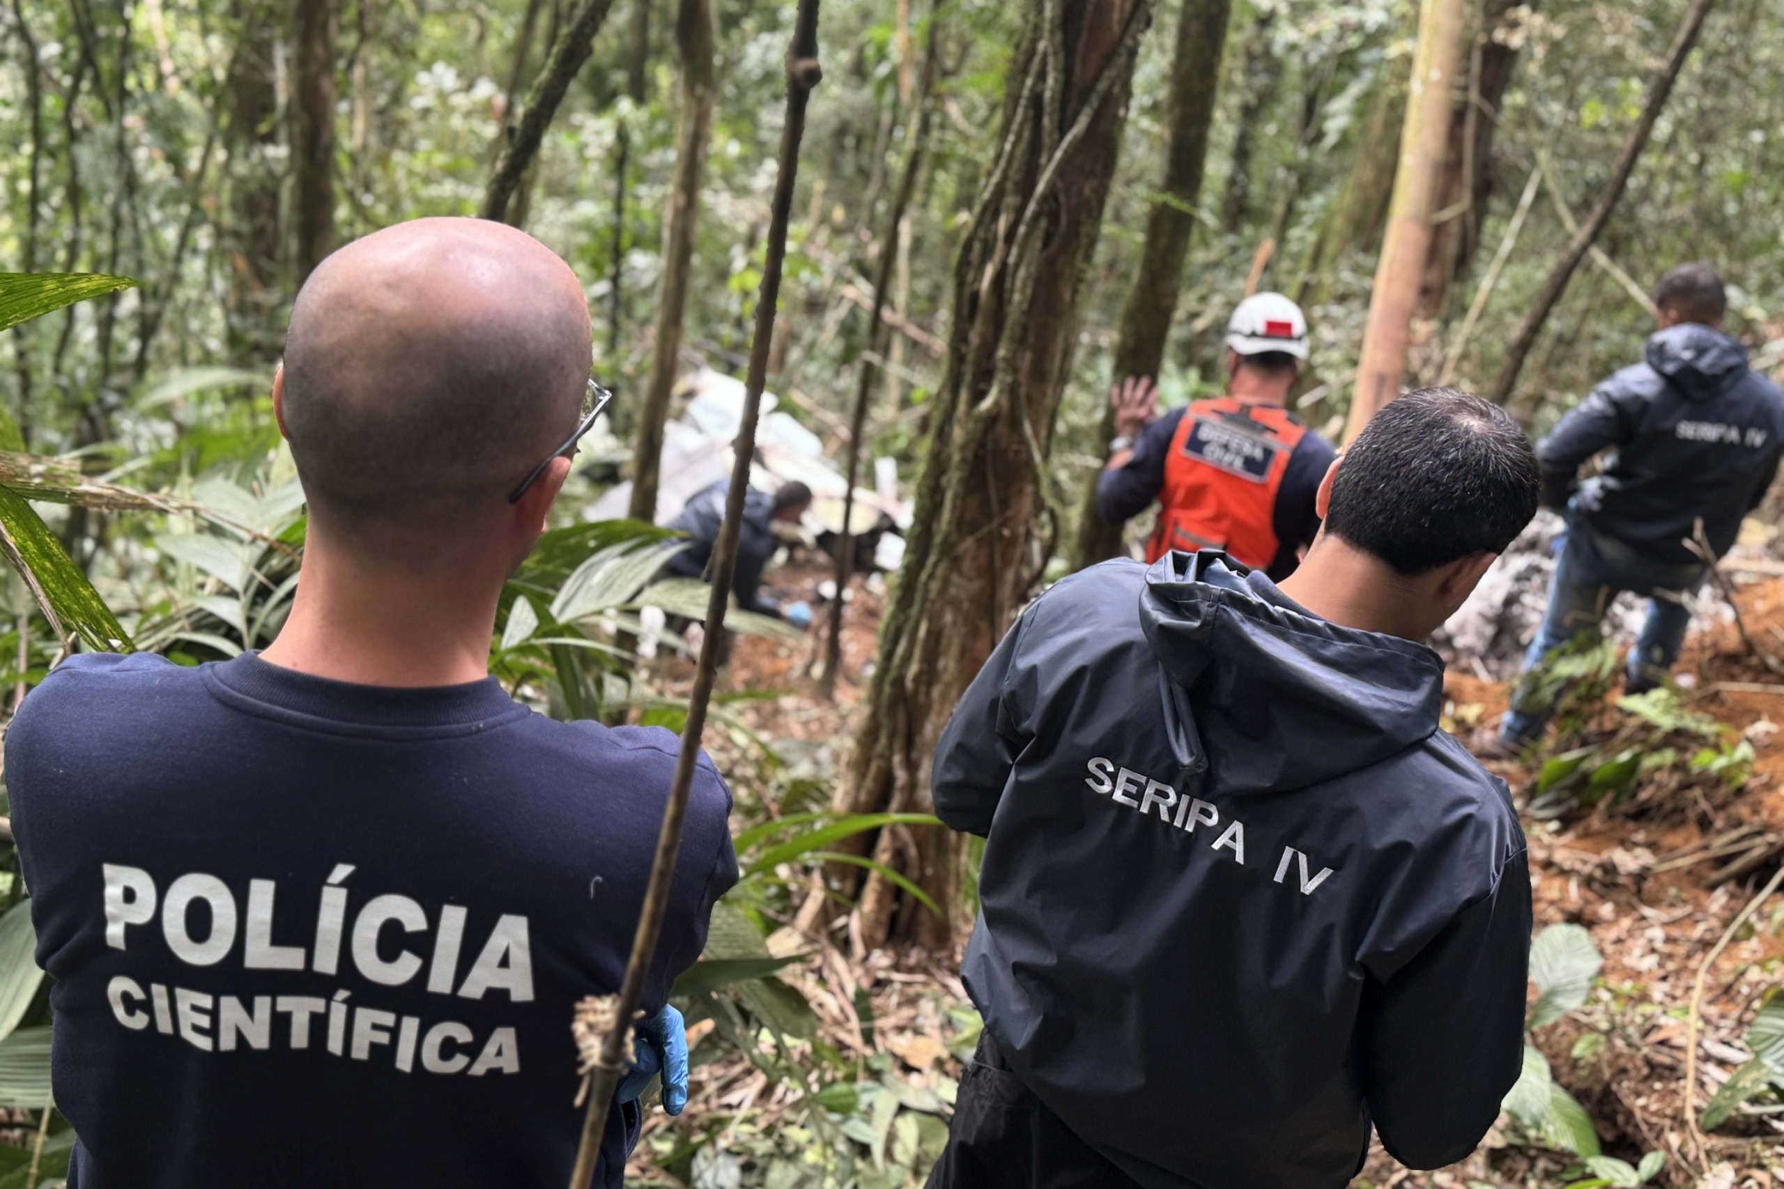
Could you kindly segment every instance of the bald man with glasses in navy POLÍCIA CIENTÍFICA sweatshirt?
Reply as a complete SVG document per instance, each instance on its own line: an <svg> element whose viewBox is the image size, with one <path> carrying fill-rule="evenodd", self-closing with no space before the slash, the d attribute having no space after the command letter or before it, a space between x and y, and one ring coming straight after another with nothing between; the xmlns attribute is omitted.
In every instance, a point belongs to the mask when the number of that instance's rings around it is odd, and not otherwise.
<svg viewBox="0 0 1784 1189"><path fill-rule="evenodd" d="M75 1189L569 1180L571 1009L619 985L678 748L539 716L487 673L589 362L582 286L514 229L343 248L273 384L309 498L278 639L196 669L78 655L25 698L5 775ZM658 1048L737 880L728 811L701 757L644 994Z"/></svg>

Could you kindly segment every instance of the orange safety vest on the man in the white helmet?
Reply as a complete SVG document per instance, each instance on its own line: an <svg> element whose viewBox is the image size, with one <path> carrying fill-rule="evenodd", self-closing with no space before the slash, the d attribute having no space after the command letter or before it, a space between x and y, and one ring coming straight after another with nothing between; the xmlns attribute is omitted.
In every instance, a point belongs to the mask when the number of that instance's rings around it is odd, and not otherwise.
<svg viewBox="0 0 1784 1189"><path fill-rule="evenodd" d="M1154 562L1169 550L1226 550L1245 566L1267 570L1281 548L1276 493L1306 432L1281 405L1220 396L1185 409L1165 455L1158 527L1145 559Z"/></svg>

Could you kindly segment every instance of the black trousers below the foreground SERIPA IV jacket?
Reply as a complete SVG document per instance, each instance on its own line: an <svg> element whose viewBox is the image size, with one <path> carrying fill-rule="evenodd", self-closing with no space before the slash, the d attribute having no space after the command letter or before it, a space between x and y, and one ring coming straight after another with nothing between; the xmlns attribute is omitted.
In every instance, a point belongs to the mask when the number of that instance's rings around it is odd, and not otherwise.
<svg viewBox="0 0 1784 1189"><path fill-rule="evenodd" d="M1140 1189L1047 1109L979 1037L928 1189Z"/></svg>

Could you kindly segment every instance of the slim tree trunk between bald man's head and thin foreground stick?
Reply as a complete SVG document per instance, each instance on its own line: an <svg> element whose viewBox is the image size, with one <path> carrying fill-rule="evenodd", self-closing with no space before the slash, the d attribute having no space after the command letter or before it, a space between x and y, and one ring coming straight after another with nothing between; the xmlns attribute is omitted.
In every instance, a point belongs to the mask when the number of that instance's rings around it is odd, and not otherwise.
<svg viewBox="0 0 1784 1189"><path fill-rule="evenodd" d="M664 286L657 303L657 337L651 343L651 378L639 409L632 452L632 503L626 514L633 520L657 518L664 421L669 418L669 391L680 366L694 221L699 218L706 141L712 139L712 104L719 93L715 37L712 0L681 0L674 23L676 48L681 54L681 134L676 141L674 184L664 232Z"/></svg>

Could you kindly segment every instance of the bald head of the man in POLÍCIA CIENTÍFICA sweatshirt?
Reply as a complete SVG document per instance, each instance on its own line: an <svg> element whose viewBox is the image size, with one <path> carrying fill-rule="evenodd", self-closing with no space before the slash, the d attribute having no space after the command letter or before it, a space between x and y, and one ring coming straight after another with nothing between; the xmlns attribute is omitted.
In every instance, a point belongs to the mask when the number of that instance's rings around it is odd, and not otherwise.
<svg viewBox="0 0 1784 1189"><path fill-rule="evenodd" d="M532 236L434 218L353 241L310 273L285 336L312 518L426 536L500 512L574 428L589 364L582 286Z"/></svg>

